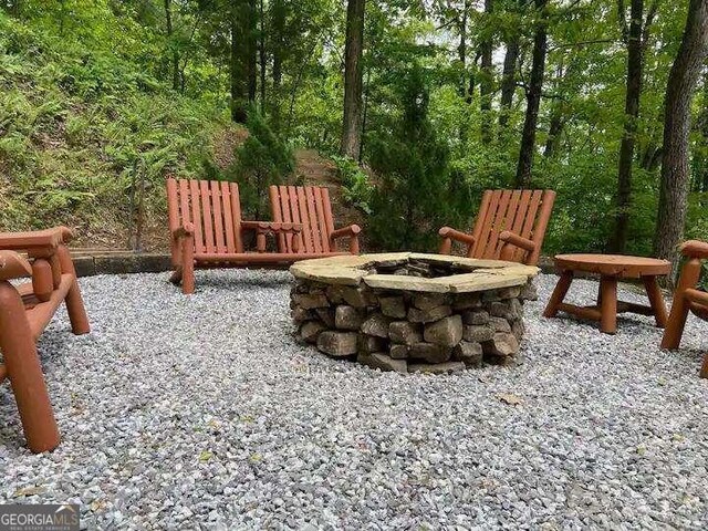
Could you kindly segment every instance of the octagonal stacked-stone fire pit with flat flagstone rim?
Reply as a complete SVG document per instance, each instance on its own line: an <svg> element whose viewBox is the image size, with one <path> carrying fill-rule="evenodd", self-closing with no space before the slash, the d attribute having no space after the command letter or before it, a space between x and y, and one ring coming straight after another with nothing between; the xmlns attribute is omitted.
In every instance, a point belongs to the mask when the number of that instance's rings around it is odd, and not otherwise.
<svg viewBox="0 0 708 531"><path fill-rule="evenodd" d="M385 371L447 373L518 363L523 302L539 269L412 252L322 258L290 268L299 335Z"/></svg>

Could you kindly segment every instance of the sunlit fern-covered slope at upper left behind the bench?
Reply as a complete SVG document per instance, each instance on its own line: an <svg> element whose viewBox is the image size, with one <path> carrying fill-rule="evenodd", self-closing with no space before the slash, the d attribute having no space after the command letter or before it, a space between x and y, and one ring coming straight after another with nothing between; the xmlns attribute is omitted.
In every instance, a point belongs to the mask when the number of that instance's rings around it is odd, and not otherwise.
<svg viewBox="0 0 708 531"><path fill-rule="evenodd" d="M0 227L66 223L123 239L136 183L159 221L164 176L197 176L227 122L100 40L60 39L43 21L0 12Z"/></svg>

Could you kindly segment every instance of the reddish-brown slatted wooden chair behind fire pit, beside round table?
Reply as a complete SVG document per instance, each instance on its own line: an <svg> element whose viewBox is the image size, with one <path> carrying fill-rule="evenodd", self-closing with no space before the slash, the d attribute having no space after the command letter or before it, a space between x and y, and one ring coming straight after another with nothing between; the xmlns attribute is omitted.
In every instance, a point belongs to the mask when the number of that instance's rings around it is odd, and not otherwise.
<svg viewBox="0 0 708 531"><path fill-rule="evenodd" d="M554 201L553 190L487 190L472 233L442 227L439 252L449 254L459 241L468 258L535 266Z"/></svg>

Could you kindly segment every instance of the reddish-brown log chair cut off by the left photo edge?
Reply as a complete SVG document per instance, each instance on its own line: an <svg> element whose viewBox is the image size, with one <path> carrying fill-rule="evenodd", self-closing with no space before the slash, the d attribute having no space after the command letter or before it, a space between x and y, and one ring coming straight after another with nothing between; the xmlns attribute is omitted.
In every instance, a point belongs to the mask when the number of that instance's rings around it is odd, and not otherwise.
<svg viewBox="0 0 708 531"><path fill-rule="evenodd" d="M88 320L65 243L64 227L38 232L0 233L0 382L10 379L28 446L54 449L59 428L37 353L37 339L56 309L66 303L74 334L88 332ZM17 251L27 253L28 259ZM24 284L11 283L31 278Z"/></svg>

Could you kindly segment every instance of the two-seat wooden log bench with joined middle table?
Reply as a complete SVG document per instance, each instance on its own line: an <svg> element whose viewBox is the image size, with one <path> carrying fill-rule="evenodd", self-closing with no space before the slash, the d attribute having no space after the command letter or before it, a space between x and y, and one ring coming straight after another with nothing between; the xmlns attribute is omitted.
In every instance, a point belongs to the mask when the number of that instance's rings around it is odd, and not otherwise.
<svg viewBox="0 0 708 531"><path fill-rule="evenodd" d="M280 188L284 189L279 195ZM348 236L351 252L358 252L361 229L334 230L326 189L271 188L273 221L241 219L239 188L235 183L167 179L167 209L171 236L171 282L184 293L195 291L195 269L284 267L309 258L343 254L335 239ZM324 191L323 191L324 190ZM256 251L246 251L243 236L256 233ZM278 252L267 251L267 237L275 238Z"/></svg>

